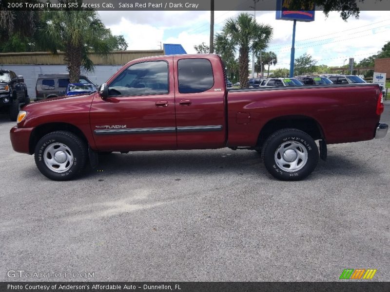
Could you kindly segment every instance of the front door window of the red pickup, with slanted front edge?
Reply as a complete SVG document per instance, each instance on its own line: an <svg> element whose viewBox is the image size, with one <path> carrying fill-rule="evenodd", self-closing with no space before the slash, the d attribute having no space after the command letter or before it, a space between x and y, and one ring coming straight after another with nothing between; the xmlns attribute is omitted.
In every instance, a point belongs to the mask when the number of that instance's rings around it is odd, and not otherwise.
<svg viewBox="0 0 390 292"><path fill-rule="evenodd" d="M168 93L168 63L151 61L131 65L108 86L110 96Z"/></svg>

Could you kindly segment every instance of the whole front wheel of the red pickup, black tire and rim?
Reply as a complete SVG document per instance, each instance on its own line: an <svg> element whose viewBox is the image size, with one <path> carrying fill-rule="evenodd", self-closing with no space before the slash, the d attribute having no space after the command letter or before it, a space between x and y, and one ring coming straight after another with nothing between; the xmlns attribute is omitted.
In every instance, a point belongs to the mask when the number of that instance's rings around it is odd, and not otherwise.
<svg viewBox="0 0 390 292"><path fill-rule="evenodd" d="M65 161L56 160L52 154ZM44 176L54 181L74 179L84 169L87 157L87 145L67 131L49 133L35 146L35 164Z"/></svg>

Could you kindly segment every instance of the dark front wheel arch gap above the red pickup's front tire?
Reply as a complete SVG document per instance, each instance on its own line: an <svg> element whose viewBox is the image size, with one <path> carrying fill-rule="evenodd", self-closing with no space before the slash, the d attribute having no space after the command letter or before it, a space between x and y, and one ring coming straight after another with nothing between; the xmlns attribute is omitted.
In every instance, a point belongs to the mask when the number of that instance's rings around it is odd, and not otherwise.
<svg viewBox="0 0 390 292"><path fill-rule="evenodd" d="M40 138L42 138L46 134L60 130L72 132L73 134L77 135L81 140L83 140L87 145L89 145L89 141L84 135L84 133L75 125L68 123L48 123L39 125L31 133L29 141L30 154L34 153L35 146L37 145Z"/></svg>

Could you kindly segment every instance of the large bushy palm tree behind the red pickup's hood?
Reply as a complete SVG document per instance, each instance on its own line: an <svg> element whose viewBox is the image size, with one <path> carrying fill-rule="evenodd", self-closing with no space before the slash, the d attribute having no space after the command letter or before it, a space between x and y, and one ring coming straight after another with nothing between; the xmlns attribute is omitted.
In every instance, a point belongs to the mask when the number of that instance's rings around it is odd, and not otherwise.
<svg viewBox="0 0 390 292"><path fill-rule="evenodd" d="M94 71L89 52L107 55L117 44L94 10L46 11L43 22L37 42L54 55L64 52L70 82L78 82L81 68L86 72Z"/></svg>

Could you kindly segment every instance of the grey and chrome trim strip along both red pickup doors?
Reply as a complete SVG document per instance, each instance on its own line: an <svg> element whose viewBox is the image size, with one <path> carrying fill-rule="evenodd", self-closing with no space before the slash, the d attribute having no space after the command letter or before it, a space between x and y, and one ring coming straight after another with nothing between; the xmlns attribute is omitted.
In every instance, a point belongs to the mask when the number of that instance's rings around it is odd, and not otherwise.
<svg viewBox="0 0 390 292"><path fill-rule="evenodd" d="M130 128L130 129L101 129L95 130L96 135L113 134L144 134L144 133L173 133L176 132L199 132L199 131L220 131L222 126L188 126L188 127L164 127L164 128Z"/></svg>

